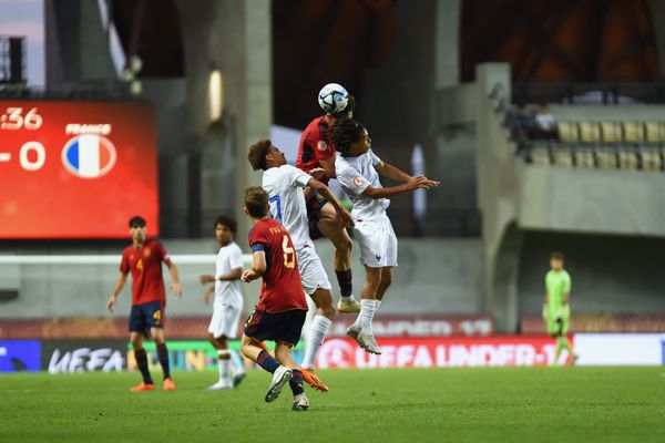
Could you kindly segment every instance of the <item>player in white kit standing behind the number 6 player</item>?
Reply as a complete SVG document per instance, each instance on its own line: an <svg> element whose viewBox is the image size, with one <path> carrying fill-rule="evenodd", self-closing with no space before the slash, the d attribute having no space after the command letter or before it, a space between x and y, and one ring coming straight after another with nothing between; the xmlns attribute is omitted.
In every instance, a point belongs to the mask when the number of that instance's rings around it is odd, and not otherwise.
<svg viewBox="0 0 665 443"><path fill-rule="evenodd" d="M241 276L243 275L243 251L233 240L237 229L235 218L219 215L215 218L215 238L219 244L215 275L204 274L198 277L202 285L213 284L205 291L205 302L213 302L213 318L208 326L208 340L217 350L219 381L209 387L211 390L237 387L245 378L241 364L233 359L228 348L228 339L237 337L238 321L243 311L243 293ZM233 367L233 379L231 377Z"/></svg>

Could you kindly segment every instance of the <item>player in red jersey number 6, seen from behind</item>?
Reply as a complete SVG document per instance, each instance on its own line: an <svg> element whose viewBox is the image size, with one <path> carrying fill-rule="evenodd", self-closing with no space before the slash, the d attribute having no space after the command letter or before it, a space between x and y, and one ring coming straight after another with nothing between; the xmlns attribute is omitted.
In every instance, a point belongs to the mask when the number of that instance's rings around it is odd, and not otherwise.
<svg viewBox="0 0 665 443"><path fill-rule="evenodd" d="M260 296L254 313L245 322L241 351L249 360L273 373L266 393L266 402L279 395L288 382L294 393L294 411L305 411L309 401L303 387L303 374L296 369L290 354L300 340L300 331L307 316L307 301L303 292L296 251L286 228L270 218L268 194L259 186L245 189L245 214L254 228L249 231L252 269L241 277L249 282L263 277ZM275 341L275 358L262 342Z"/></svg>

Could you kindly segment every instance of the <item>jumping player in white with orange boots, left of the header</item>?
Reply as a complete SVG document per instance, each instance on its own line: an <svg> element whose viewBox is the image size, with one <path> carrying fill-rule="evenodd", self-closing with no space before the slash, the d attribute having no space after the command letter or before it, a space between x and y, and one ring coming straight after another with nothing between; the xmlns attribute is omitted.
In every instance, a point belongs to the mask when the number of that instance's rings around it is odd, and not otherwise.
<svg viewBox="0 0 665 443"><path fill-rule="evenodd" d="M309 222L303 189L309 186L326 197L344 226L352 226L354 220L326 185L311 175L287 165L284 153L273 146L269 140L260 140L253 144L247 159L254 171L264 171L262 186L270 197L270 215L288 230L296 247L303 289L311 297L317 308L305 344L303 377L313 388L327 391L328 387L314 373L314 365L316 353L330 329L335 308L330 281L309 237Z"/></svg>

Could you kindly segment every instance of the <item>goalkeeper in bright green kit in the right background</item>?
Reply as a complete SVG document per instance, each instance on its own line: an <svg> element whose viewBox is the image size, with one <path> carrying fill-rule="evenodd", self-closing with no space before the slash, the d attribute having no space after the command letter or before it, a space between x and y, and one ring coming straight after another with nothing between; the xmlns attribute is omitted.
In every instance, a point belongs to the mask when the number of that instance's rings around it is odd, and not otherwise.
<svg viewBox="0 0 665 443"><path fill-rule="evenodd" d="M550 270L545 275L545 305L543 305L543 319L548 327L548 333L556 339L556 352L553 364L556 364L561 351L569 352L571 363L577 360L573 352L573 346L566 337L571 322L571 306L569 303L571 293L571 276L563 269L563 254L552 253L550 255Z"/></svg>

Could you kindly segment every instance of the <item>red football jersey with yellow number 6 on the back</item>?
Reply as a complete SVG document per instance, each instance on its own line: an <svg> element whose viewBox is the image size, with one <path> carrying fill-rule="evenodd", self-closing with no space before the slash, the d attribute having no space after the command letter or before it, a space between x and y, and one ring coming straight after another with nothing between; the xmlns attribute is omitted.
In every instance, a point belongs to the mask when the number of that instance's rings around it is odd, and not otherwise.
<svg viewBox="0 0 665 443"><path fill-rule="evenodd" d="M307 310L296 250L286 228L273 218L264 218L249 231L249 247L253 251L263 248L266 255L258 308L268 312Z"/></svg>

